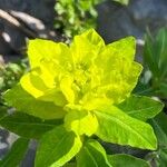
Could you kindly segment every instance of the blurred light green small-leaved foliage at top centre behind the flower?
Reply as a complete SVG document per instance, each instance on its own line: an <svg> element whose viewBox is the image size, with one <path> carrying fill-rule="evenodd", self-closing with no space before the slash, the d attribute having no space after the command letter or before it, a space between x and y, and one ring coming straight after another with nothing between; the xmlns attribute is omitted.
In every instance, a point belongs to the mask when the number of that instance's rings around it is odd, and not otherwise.
<svg viewBox="0 0 167 167"><path fill-rule="evenodd" d="M58 0L55 10L57 12L55 28L66 37L71 38L85 30L96 28L96 6L106 0ZM128 4L129 0L114 0L121 4Z"/></svg>

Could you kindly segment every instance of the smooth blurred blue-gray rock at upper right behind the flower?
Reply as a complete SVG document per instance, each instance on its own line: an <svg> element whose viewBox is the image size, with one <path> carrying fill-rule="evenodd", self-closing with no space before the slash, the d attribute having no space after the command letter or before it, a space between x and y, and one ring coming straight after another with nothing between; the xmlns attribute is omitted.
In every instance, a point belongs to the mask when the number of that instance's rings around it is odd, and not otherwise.
<svg viewBox="0 0 167 167"><path fill-rule="evenodd" d="M107 42L126 36L141 39L146 27L156 31L167 26L166 0L131 0L127 7L108 0L98 12L98 31Z"/></svg>

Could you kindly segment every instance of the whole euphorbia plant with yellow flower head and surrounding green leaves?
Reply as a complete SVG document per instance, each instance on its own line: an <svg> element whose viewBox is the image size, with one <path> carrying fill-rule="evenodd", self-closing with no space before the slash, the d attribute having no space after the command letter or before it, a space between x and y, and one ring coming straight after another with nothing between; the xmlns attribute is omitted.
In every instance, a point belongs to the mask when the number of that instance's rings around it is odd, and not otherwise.
<svg viewBox="0 0 167 167"><path fill-rule="evenodd" d="M116 166L97 138L155 150L157 139L146 120L163 105L130 95L141 71L134 55L132 37L106 46L92 29L76 36L70 46L30 40L30 71L3 96L20 112L0 124L39 140L36 167L60 167L68 161L78 167ZM31 125L26 132L7 124L18 118Z"/></svg>

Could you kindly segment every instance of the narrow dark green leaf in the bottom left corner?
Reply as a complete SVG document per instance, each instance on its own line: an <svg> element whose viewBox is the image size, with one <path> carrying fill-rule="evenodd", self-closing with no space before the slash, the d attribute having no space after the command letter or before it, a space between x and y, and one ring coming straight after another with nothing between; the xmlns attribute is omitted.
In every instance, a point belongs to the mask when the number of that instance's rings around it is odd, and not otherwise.
<svg viewBox="0 0 167 167"><path fill-rule="evenodd" d="M28 145L28 139L19 138L12 145L7 156L0 161L0 167L18 167L27 151Z"/></svg>

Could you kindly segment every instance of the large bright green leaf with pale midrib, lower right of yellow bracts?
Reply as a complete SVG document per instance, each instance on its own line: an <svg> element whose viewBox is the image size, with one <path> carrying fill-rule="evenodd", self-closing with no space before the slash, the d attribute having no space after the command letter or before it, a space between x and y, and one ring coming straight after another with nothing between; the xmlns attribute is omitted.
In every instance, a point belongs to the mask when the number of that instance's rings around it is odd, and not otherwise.
<svg viewBox="0 0 167 167"><path fill-rule="evenodd" d="M107 143L156 149L157 139L150 125L135 119L115 106L95 111L99 128L96 135Z"/></svg>

